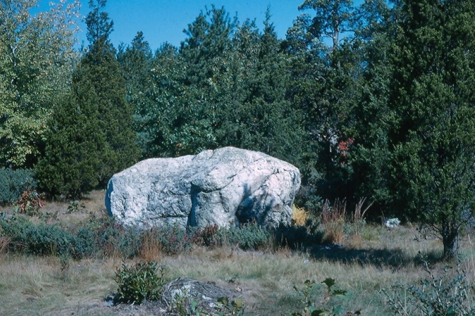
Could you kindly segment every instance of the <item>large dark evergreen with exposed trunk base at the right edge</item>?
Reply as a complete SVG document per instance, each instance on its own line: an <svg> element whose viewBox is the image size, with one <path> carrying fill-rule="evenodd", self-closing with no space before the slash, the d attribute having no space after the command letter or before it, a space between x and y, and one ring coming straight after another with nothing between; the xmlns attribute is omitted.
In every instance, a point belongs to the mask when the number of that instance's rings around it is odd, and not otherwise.
<svg viewBox="0 0 475 316"><path fill-rule="evenodd" d="M396 201L441 238L456 257L474 211L475 4L403 1L392 53L390 108L395 114L392 179Z"/></svg>

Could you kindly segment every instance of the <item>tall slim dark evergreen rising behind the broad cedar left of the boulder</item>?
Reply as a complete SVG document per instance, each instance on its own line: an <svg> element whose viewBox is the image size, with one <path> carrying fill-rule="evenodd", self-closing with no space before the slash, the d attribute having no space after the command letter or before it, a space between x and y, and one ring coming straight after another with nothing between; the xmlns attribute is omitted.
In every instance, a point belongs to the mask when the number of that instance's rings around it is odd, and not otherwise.
<svg viewBox="0 0 475 316"><path fill-rule="evenodd" d="M125 81L115 57L115 49L109 35L113 22L101 11L106 0L90 0L91 11L86 17L89 51L81 59L84 80L93 86L98 100L97 108L104 122L103 132L111 152L107 163L102 166L104 178L108 180L114 172L130 166L138 157L136 136L132 130L134 109L127 103Z"/></svg>

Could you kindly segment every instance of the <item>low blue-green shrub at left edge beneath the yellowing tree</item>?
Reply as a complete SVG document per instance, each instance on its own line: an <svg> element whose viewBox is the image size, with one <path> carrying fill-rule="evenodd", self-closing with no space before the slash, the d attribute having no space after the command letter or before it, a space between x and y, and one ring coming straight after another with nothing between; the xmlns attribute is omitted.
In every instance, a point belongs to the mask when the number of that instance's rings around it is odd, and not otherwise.
<svg viewBox="0 0 475 316"><path fill-rule="evenodd" d="M34 190L36 181L29 169L0 168L0 205L20 199L23 191Z"/></svg>

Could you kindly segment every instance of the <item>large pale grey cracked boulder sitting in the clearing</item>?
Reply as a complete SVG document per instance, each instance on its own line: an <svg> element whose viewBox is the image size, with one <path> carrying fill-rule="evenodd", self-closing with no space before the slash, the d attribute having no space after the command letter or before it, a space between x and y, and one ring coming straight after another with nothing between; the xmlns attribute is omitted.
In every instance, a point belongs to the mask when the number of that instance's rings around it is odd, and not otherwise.
<svg viewBox="0 0 475 316"><path fill-rule="evenodd" d="M125 226L220 227L290 223L300 172L271 156L225 147L196 156L151 158L107 185L109 216Z"/></svg>

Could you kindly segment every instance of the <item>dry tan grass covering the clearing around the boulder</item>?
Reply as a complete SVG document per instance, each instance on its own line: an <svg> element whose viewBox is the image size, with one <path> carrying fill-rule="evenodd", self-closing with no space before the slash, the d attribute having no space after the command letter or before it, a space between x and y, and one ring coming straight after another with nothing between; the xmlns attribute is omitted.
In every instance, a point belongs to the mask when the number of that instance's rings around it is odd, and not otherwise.
<svg viewBox="0 0 475 316"><path fill-rule="evenodd" d="M35 221L74 226L90 216L106 216L103 192L95 191L82 201L85 207L73 212L68 204L50 202ZM12 207L0 211L9 213ZM461 241L460 268L474 284L475 247L471 232ZM306 279L336 279L337 287L352 295L343 305L347 311L362 309L362 315L392 315L381 288L401 283L417 284L428 278L424 261L435 275L445 274L438 262L442 244L435 238L416 241L414 227L386 229L366 225L358 236L343 242L315 245L304 250L286 247L243 251L233 245L208 248L194 246L178 255L148 249L147 259L156 260L165 276L187 276L213 281L227 288L242 289L247 315L289 315L302 307L293 286ZM1 248L1 247L0 247ZM105 307L104 298L117 290L114 274L125 260L119 255L103 258L64 260L56 256L0 254L0 315L156 315L146 306ZM447 272L455 273L454 270ZM472 300L473 293L469 293Z"/></svg>

